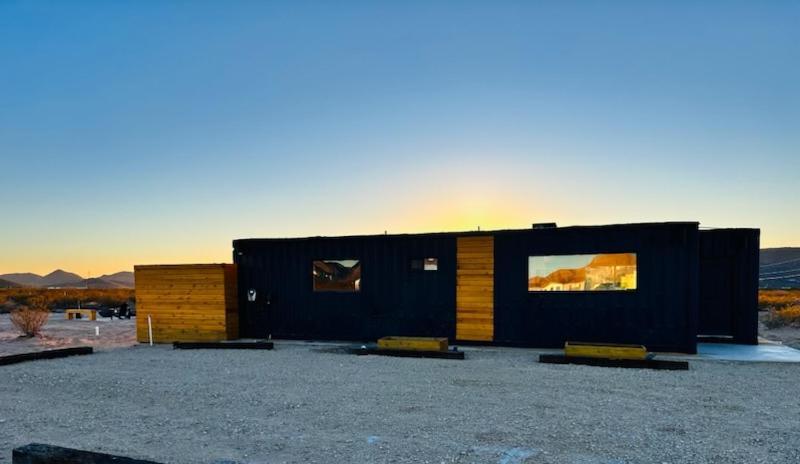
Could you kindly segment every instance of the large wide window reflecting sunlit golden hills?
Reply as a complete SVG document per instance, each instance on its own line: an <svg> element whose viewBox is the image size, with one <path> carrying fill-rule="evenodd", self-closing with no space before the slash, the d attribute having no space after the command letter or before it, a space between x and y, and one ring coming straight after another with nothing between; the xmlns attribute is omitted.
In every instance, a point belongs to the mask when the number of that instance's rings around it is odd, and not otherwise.
<svg viewBox="0 0 800 464"><path fill-rule="evenodd" d="M636 290L636 253L528 257L529 292Z"/></svg>

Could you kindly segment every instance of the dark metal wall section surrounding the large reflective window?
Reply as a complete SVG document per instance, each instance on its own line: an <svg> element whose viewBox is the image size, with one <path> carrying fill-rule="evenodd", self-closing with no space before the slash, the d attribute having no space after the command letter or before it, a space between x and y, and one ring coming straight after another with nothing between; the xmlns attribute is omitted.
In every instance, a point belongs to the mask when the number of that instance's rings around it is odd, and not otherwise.
<svg viewBox="0 0 800 464"><path fill-rule="evenodd" d="M495 341L567 340L696 351L697 223L566 227L495 234ZM636 253L635 291L529 292L528 257Z"/></svg>

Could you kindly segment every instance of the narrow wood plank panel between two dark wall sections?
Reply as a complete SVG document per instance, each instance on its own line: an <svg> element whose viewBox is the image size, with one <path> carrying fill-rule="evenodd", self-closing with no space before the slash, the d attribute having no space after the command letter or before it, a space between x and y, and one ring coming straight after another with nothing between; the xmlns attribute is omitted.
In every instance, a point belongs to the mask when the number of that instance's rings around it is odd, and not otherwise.
<svg viewBox="0 0 800 464"><path fill-rule="evenodd" d="M494 237L457 238L456 340L494 339Z"/></svg>

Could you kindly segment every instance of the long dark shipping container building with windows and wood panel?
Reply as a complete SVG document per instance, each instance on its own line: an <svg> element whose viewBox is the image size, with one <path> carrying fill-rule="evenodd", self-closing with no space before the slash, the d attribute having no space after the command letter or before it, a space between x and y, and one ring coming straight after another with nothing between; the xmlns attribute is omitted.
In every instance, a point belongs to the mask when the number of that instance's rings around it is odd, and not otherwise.
<svg viewBox="0 0 800 464"><path fill-rule="evenodd" d="M750 239L738 240L740 233ZM696 222L547 225L244 239L233 247L244 337L404 335L553 348L573 340L693 353L702 322L714 326L714 335L755 340L753 229L700 231ZM727 261L713 265L724 269L712 270L712 258L723 255ZM736 266L741 270L729 269ZM717 272L727 273L725 285L743 290L723 301ZM725 316L736 322L720 323Z"/></svg>

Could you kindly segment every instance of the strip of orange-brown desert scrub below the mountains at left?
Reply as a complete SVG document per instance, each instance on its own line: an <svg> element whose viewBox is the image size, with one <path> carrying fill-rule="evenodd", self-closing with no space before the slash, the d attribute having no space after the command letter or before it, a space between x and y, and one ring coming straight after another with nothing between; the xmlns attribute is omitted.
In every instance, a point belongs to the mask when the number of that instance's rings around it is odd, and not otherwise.
<svg viewBox="0 0 800 464"><path fill-rule="evenodd" d="M112 289L45 289L45 288L10 288L0 289L0 313L11 312L31 302L41 299L49 310L75 308L78 303L97 303L101 306L119 306L134 299L134 290L130 288Z"/></svg>

